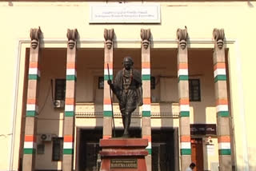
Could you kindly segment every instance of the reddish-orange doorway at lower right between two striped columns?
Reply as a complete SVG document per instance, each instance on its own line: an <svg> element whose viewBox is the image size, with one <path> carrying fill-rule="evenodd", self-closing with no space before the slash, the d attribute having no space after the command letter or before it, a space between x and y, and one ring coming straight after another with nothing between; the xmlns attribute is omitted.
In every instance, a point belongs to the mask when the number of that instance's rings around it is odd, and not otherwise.
<svg viewBox="0 0 256 171"><path fill-rule="evenodd" d="M191 138L191 160L196 164L195 171L203 170L202 138Z"/></svg>

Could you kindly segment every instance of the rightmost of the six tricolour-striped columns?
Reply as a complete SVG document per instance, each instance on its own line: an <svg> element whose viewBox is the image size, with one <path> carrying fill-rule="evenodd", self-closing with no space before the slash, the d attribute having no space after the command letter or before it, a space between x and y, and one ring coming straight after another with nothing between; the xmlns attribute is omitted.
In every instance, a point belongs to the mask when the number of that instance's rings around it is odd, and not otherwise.
<svg viewBox="0 0 256 171"><path fill-rule="evenodd" d="M230 150L230 112L226 89L224 30L214 29L214 85L217 112L218 157L220 171L232 170Z"/></svg>

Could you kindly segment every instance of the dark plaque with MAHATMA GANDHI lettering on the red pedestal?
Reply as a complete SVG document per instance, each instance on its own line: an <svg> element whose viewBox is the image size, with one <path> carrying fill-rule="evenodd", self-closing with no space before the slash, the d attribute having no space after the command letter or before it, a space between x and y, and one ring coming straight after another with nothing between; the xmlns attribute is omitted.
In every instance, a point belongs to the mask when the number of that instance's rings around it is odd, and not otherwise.
<svg viewBox="0 0 256 171"><path fill-rule="evenodd" d="M136 158L111 159L110 168L138 168L138 160Z"/></svg>

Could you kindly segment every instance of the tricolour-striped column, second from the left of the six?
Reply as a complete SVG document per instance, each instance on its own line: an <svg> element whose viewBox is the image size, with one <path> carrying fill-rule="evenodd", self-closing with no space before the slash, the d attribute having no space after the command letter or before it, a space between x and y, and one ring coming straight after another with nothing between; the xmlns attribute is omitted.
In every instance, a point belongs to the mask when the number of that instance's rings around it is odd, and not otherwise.
<svg viewBox="0 0 256 171"><path fill-rule="evenodd" d="M75 120L75 90L76 90L76 49L78 30L67 30L66 50L66 97L64 119L64 142L62 170L73 170L74 165L74 120Z"/></svg>

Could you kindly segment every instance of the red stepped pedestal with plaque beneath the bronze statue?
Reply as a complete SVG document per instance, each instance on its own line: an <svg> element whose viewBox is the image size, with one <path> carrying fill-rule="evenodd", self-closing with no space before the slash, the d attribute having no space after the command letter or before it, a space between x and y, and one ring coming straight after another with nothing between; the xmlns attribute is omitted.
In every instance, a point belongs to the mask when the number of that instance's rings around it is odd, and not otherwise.
<svg viewBox="0 0 256 171"><path fill-rule="evenodd" d="M101 171L146 171L147 139L101 139Z"/></svg>

